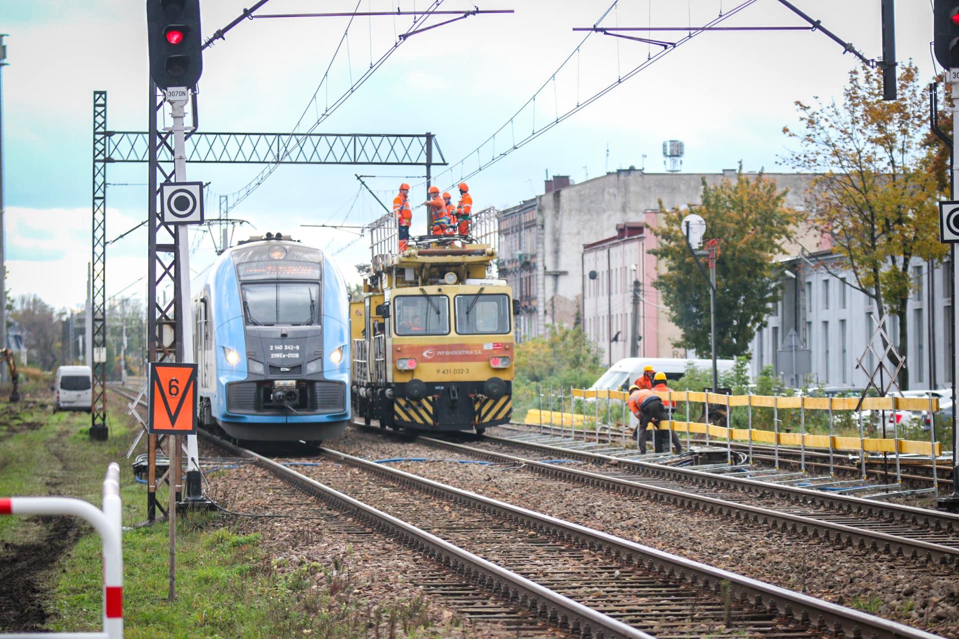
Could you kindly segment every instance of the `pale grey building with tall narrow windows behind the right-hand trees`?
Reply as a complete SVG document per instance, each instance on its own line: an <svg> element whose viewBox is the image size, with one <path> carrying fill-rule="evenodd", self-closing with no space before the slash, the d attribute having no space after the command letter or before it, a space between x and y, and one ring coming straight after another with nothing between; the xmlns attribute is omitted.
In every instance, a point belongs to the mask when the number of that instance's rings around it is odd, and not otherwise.
<svg viewBox="0 0 959 639"><path fill-rule="evenodd" d="M790 386L801 386L804 380L827 387L865 386L867 377L855 364L876 331L872 317L875 308L866 295L844 284L844 280L854 282L854 277L835 267L838 260L823 251L808 259L784 261L787 276L783 281L783 299L771 309L767 326L753 340L754 377L763 366L771 365ZM826 271L823 262L833 264L829 270L835 275ZM908 345L904 355L909 386L914 390L943 388L952 382L948 361L952 332L947 330L953 312L948 277L951 264L946 262L931 271L921 260L914 260L910 266L916 286L906 308ZM886 332L898 347L899 325L895 320ZM882 352L878 345L876 350ZM867 355L863 363L873 370L878 362ZM886 366L890 364L887 362Z"/></svg>

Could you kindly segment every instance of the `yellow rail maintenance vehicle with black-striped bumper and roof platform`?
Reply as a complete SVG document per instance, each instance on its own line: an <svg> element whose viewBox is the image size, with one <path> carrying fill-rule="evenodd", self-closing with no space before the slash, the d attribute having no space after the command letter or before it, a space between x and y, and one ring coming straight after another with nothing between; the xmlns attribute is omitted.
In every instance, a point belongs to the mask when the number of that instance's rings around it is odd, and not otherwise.
<svg viewBox="0 0 959 639"><path fill-rule="evenodd" d="M496 276L495 247L473 236L424 236L400 252L391 216L374 223L371 238L363 302L350 308L355 417L477 433L508 422L514 305Z"/></svg>

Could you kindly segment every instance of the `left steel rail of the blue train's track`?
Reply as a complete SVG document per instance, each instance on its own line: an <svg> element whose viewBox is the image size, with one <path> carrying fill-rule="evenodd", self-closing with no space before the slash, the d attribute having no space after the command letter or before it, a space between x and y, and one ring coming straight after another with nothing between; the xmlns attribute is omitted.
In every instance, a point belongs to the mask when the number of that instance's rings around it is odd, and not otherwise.
<svg viewBox="0 0 959 639"><path fill-rule="evenodd" d="M583 637L596 637L596 639L655 639L655 637L642 630L632 628L598 610L550 590L544 585L532 582L502 566L482 559L402 519L320 484L315 479L274 462L268 457L238 445L230 444L204 430L198 432L201 437L213 444L236 454L255 459L259 466L266 468L278 479L299 490L313 494L341 510L359 512L363 521L380 532L398 537L405 544L424 553L430 559L439 561L457 574L463 575L473 582L478 582L480 587L491 590L494 594L510 601L512 605L535 612L541 619L547 619L560 628L569 628L573 633L578 633ZM932 637L934 635L915 636Z"/></svg>

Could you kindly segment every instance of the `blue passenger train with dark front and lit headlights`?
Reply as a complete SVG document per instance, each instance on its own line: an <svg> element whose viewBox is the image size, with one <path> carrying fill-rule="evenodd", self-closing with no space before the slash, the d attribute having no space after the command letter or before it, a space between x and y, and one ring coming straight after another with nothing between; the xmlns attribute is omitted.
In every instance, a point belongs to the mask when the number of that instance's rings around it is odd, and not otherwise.
<svg viewBox="0 0 959 639"><path fill-rule="evenodd" d="M201 423L250 441L343 432L349 308L329 257L268 233L224 251L194 290Z"/></svg>

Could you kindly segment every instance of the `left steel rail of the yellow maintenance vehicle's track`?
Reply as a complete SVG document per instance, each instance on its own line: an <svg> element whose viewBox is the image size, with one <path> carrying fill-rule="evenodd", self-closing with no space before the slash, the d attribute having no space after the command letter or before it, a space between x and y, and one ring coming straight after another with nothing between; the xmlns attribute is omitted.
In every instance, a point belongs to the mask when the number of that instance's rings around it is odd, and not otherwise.
<svg viewBox="0 0 959 639"><path fill-rule="evenodd" d="M740 504L735 501L728 501L707 495L698 495L687 491L678 491L661 486L654 486L652 484L643 484L642 482L604 475L589 470L560 467L556 464L539 462L482 448L474 448L468 445L444 442L430 437L417 437L416 441L451 448L478 457L486 457L514 464L524 464L527 467L535 468L545 474L573 479L588 486L625 491L630 494L639 493L646 497L660 501L668 501L674 505L692 510L720 513L734 519L745 519L754 523L772 525L773 528L820 536L826 540L835 539L846 545L854 545L859 548L870 547L874 550L881 549L884 553L891 553L896 556L909 553L911 559L925 559L926 561L938 560L942 563L955 563L956 560L959 559L959 547L932 543L921 539L911 539L905 536L890 535L888 533L857 528L846 524L832 523L807 515L784 513L760 506Z"/></svg>

